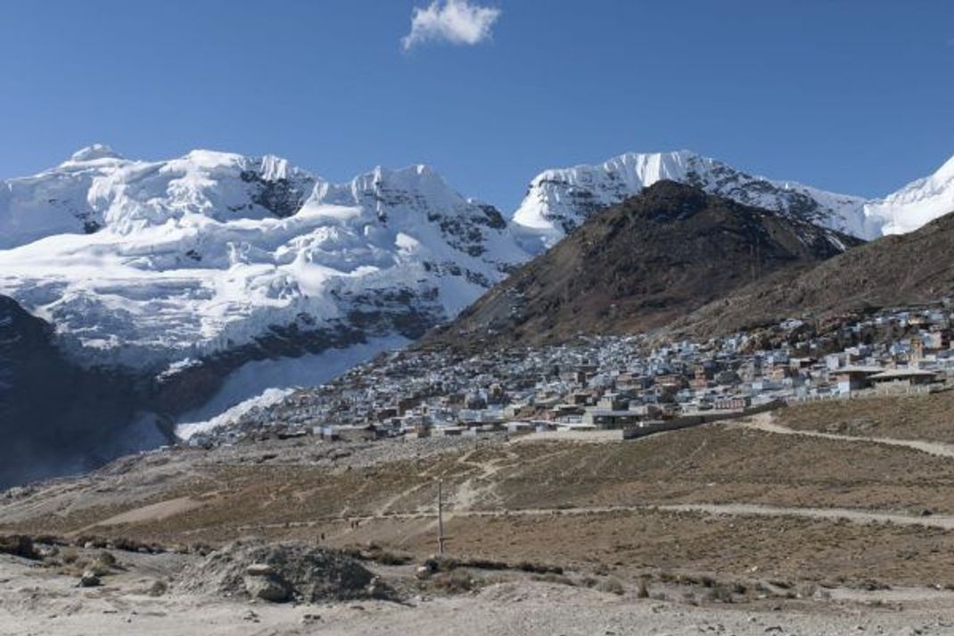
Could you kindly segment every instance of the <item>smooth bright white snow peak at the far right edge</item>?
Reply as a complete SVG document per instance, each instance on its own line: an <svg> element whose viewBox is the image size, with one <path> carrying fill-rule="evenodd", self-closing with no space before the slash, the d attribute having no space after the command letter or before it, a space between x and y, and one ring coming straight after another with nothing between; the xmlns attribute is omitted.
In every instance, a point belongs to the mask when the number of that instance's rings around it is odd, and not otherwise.
<svg viewBox="0 0 954 636"><path fill-rule="evenodd" d="M937 172L912 181L884 199L864 206L868 223L880 227L881 234L904 234L923 224L954 212L954 157Z"/></svg>

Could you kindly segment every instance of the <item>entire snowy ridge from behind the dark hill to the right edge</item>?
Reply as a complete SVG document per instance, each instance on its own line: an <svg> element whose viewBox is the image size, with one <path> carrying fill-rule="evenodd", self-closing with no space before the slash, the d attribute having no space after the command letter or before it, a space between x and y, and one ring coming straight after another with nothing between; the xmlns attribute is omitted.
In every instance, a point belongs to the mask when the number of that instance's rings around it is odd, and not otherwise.
<svg viewBox="0 0 954 636"><path fill-rule="evenodd" d="M816 223L865 240L911 231L954 201L954 158L933 176L883 200L834 194L794 181L769 180L689 151L629 153L598 165L547 170L530 181L514 214L523 244L539 252L608 205L659 180Z"/></svg>

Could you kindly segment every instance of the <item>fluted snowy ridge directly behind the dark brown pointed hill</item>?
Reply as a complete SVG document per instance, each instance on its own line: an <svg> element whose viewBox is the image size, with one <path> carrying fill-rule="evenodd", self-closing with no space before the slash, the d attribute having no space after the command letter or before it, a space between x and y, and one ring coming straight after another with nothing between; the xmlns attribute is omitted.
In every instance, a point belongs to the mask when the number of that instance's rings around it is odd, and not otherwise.
<svg viewBox="0 0 954 636"><path fill-rule="evenodd" d="M522 243L532 251L559 242L599 210L660 180L674 180L862 239L879 236L861 197L839 195L794 181L768 180L688 151L629 153L598 165L547 170L530 181L513 215Z"/></svg>

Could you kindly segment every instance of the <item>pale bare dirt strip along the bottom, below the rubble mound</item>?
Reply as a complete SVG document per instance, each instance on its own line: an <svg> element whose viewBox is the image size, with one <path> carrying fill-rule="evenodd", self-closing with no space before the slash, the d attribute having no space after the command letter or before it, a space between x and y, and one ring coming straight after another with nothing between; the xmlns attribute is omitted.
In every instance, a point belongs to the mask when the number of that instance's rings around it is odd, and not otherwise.
<svg viewBox="0 0 954 636"><path fill-rule="evenodd" d="M774 600L771 604L701 606L637 599L586 587L526 580L490 583L475 593L422 596L402 604L248 604L173 590L159 597L144 593L156 577L175 578L182 559L120 555L128 571L105 587L78 589L23 562L0 557L0 633L74 636L162 634L163 636L262 636L283 634L418 634L420 636L526 636L616 634L644 636L699 633L764 634L950 633L942 617L950 593L914 604L907 594L871 592L858 599ZM653 587L653 594L658 587ZM678 593L674 592L674 596ZM901 604L891 601L904 599ZM888 599L883 602L882 599ZM680 602L682 601L682 602ZM905 628L910 627L909 630ZM916 629L916 631L915 631Z"/></svg>

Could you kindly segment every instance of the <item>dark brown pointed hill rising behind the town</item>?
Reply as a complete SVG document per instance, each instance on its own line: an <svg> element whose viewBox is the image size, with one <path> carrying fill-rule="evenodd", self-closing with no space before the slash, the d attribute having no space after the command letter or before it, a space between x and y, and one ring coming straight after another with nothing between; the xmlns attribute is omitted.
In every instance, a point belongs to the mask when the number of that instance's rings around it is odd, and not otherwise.
<svg viewBox="0 0 954 636"><path fill-rule="evenodd" d="M587 221L436 331L447 344L654 329L780 269L861 241L659 181Z"/></svg>

